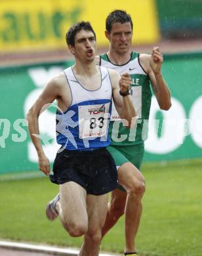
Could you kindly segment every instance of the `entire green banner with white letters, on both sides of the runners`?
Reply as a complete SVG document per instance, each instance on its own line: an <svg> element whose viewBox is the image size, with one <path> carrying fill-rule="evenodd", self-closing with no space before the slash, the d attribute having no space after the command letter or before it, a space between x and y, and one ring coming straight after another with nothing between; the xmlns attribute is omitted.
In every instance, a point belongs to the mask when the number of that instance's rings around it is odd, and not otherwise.
<svg viewBox="0 0 202 256"><path fill-rule="evenodd" d="M37 154L28 135L26 113L44 85L73 62L37 64L0 70L0 173L37 169ZM166 112L152 98L145 161L201 157L202 53L165 55L163 75L172 92ZM41 139L49 160L59 146L55 139L53 103L39 117ZM146 120L147 122L147 120Z"/></svg>

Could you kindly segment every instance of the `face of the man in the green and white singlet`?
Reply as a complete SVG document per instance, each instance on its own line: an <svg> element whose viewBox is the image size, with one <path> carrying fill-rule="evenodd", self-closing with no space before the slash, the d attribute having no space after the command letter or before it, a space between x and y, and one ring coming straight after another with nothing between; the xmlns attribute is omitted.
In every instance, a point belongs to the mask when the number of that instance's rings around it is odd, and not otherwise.
<svg viewBox="0 0 202 256"><path fill-rule="evenodd" d="M132 28L130 22L121 24L115 22L111 25L111 32L106 31L106 37L110 41L110 47L119 54L131 51Z"/></svg>

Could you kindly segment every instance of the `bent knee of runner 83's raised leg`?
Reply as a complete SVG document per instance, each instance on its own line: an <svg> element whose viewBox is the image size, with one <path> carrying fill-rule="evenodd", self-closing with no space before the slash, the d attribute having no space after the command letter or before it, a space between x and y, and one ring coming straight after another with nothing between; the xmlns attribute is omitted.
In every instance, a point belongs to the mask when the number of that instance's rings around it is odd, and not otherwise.
<svg viewBox="0 0 202 256"><path fill-rule="evenodd" d="M63 223L63 226L68 231L70 236L73 237L83 236L88 231L88 226L84 223Z"/></svg>

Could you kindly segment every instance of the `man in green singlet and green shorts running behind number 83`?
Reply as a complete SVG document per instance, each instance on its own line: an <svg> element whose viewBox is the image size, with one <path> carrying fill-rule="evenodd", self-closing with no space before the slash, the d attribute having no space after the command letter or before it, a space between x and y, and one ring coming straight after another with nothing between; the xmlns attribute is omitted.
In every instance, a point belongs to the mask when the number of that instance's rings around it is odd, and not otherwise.
<svg viewBox="0 0 202 256"><path fill-rule="evenodd" d="M102 237L125 213L125 255L136 255L135 238L142 214L144 177L138 171L144 155L147 123L150 115L151 90L155 93L159 108L169 110L171 93L161 74L163 55L159 48L150 54L138 54L131 50L132 20L125 11L115 10L106 18L106 37L110 43L107 54L96 59L97 63L115 69L120 74L131 74L131 95L136 109L136 125L127 129L113 108L110 122L111 145L108 148L118 169L120 188L111 192L108 215L102 228ZM152 87L152 88L151 88Z"/></svg>

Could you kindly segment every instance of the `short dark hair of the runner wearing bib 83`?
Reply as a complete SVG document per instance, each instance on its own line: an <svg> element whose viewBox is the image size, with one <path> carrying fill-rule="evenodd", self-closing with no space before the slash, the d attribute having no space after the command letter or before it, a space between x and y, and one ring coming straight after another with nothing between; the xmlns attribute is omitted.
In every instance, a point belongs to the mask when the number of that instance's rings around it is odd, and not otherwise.
<svg viewBox="0 0 202 256"><path fill-rule="evenodd" d="M74 46L75 45L75 35L77 32L80 32L81 30L91 31L94 34L94 38L96 39L96 34L94 33L91 23L81 21L81 22L77 22L77 23L73 24L73 26L71 26L71 28L68 30L68 32L66 33L66 43L68 45Z"/></svg>

